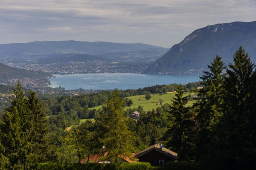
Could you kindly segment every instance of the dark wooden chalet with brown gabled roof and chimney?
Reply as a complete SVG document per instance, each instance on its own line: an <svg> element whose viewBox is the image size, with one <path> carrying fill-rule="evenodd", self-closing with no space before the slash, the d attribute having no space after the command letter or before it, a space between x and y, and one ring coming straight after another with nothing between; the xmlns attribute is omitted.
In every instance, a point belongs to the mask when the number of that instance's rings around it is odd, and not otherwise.
<svg viewBox="0 0 256 170"><path fill-rule="evenodd" d="M166 149L158 142L134 155L140 162L149 162L152 166L163 166L168 161L177 160L177 153Z"/></svg>

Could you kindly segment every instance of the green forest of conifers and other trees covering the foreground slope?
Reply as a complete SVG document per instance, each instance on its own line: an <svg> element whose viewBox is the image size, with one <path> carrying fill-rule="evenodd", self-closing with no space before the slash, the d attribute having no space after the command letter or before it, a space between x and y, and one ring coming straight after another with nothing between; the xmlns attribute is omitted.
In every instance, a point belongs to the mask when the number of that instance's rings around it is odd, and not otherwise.
<svg viewBox="0 0 256 170"><path fill-rule="evenodd" d="M18 83L11 106L0 118L0 169L136 169L132 163L119 164L119 155L130 156L158 141L178 154L173 163L185 164L183 169L255 169L255 65L240 46L232 63L226 66L217 55L208 68L197 101L188 107L189 98L183 94L193 84L40 100L33 91L25 96ZM167 91L176 91L172 104L147 112L137 108L137 121L124 110L130 102L125 97ZM88 109L102 104L99 111ZM78 125L79 119L91 117L95 122ZM64 131L72 124L78 126ZM81 164L102 146L108 150L103 159L111 164ZM139 165L149 170L150 165Z"/></svg>

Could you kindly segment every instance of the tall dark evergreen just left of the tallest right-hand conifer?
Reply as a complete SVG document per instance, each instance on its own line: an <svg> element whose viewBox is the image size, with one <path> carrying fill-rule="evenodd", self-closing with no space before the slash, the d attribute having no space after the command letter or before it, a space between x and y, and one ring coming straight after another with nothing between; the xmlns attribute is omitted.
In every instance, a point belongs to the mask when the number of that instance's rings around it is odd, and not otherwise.
<svg viewBox="0 0 256 170"><path fill-rule="evenodd" d="M216 56L211 65L208 65L209 71L204 71L201 77L203 89L198 93L198 102L194 105L197 122L197 147L198 155L204 156L204 151L210 147L209 141L214 137L213 127L218 124L223 115L224 102L224 63L220 56Z"/></svg>

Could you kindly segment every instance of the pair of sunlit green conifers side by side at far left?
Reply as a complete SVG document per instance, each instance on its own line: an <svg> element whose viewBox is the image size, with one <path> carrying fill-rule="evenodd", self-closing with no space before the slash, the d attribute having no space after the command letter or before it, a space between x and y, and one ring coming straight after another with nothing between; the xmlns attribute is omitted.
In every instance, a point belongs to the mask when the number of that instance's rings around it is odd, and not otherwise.
<svg viewBox="0 0 256 170"><path fill-rule="evenodd" d="M0 167L26 170L51 157L48 123L35 92L25 97L18 83L13 93L12 106L0 119Z"/></svg>

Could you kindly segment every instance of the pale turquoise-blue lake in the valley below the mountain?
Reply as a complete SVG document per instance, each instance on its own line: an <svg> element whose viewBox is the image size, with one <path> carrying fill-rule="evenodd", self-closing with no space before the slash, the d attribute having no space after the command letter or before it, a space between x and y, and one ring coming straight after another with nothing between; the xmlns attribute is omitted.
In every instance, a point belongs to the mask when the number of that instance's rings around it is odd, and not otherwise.
<svg viewBox="0 0 256 170"><path fill-rule="evenodd" d="M51 78L50 87L64 87L66 90L78 88L107 90L107 89L137 89L146 86L163 85L172 83L186 84L198 82L199 76L173 76L149 75L130 73L102 73L102 74L55 74Z"/></svg>

